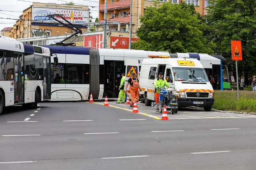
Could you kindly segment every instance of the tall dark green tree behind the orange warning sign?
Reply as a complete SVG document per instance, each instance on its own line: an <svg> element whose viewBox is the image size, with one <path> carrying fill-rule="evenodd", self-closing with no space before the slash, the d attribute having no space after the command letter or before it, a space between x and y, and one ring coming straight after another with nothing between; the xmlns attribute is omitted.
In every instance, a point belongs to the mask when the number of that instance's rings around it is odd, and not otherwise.
<svg viewBox="0 0 256 170"><path fill-rule="evenodd" d="M243 61L238 61L238 75L256 72L256 1L213 0L207 10L207 24L216 43L214 51L232 61L231 40L241 40Z"/></svg>

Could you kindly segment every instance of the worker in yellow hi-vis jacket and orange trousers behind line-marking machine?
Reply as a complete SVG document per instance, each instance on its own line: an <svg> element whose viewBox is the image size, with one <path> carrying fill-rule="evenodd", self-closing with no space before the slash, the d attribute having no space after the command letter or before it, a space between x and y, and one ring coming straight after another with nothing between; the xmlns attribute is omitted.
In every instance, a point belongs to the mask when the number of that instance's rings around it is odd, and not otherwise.
<svg viewBox="0 0 256 170"><path fill-rule="evenodd" d="M164 86L168 88L171 87L163 77L164 77L164 74L162 72L159 72L158 78L156 78L154 81L156 104L158 104L159 102L160 88L164 88Z"/></svg>

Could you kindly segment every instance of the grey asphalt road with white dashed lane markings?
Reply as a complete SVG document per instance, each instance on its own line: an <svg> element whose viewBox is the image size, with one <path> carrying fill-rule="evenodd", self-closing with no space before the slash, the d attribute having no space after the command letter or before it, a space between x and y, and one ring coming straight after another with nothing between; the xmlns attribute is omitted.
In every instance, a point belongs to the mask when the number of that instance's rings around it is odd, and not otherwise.
<svg viewBox="0 0 256 170"><path fill-rule="evenodd" d="M179 108L159 120L143 104L132 113L109 103L7 107L0 116L0 170L255 169L255 115Z"/></svg>

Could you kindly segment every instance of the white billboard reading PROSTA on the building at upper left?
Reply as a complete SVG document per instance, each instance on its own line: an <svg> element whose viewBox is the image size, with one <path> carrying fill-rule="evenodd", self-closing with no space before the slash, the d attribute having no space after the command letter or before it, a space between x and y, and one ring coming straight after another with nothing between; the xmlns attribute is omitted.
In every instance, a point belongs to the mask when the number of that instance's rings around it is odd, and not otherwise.
<svg viewBox="0 0 256 170"><path fill-rule="evenodd" d="M88 10L77 10L77 9L63 9L63 8L40 8L40 7L33 7L32 10L32 20L36 22L50 22L54 20L49 20L46 16L51 14L62 14L63 17L74 24L83 24L89 21L89 11ZM60 21L63 21L62 18L57 18Z"/></svg>

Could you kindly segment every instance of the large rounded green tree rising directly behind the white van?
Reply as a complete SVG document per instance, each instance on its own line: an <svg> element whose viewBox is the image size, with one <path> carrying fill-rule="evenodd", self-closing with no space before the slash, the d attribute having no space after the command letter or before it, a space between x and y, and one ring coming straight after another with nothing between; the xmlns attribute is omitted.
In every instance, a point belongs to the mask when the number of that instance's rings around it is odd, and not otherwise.
<svg viewBox="0 0 256 170"><path fill-rule="evenodd" d="M137 31L139 41L133 49L169 51L170 53L209 53L215 47L203 33L207 25L194 5L156 2L140 17L141 27Z"/></svg>

